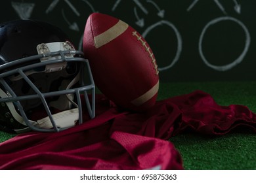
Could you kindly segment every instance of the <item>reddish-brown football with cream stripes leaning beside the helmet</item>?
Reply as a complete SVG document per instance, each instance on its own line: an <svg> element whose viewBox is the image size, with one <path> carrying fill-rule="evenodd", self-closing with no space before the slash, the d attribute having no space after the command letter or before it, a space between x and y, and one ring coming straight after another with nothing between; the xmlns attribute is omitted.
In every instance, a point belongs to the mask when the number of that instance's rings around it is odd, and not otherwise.
<svg viewBox="0 0 256 183"><path fill-rule="evenodd" d="M117 106L143 111L156 103L158 65L150 46L133 27L95 12L85 25L83 52L95 85Z"/></svg>

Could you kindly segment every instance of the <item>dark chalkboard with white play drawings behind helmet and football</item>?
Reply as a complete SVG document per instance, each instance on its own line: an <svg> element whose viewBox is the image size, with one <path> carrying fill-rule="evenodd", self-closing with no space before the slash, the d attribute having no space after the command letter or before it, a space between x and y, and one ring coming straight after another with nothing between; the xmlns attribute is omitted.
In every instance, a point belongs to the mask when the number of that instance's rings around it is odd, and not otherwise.
<svg viewBox="0 0 256 183"><path fill-rule="evenodd" d="M115 16L148 41L162 82L256 79L255 0L13 0L1 7L1 22L49 22L80 50L89 14Z"/></svg>

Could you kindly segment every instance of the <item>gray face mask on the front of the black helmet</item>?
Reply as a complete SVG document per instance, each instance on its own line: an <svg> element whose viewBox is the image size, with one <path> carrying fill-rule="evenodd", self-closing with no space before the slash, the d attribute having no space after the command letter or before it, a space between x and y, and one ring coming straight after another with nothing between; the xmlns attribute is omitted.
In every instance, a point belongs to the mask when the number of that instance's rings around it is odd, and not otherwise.
<svg viewBox="0 0 256 183"><path fill-rule="evenodd" d="M76 51L70 42L51 42L37 46L38 55L0 65L0 122L21 124L12 127L16 133L60 131L81 124L80 94L91 118L95 117L95 84L83 52ZM32 63L33 60L39 60ZM24 65L18 67L18 65ZM87 73L89 84L83 81ZM91 90L91 103L87 91ZM46 117L30 119L28 113L43 108ZM52 112L54 108L58 112ZM2 125L3 126L3 125ZM8 125L7 125L8 126ZM17 125L18 126L18 125Z"/></svg>

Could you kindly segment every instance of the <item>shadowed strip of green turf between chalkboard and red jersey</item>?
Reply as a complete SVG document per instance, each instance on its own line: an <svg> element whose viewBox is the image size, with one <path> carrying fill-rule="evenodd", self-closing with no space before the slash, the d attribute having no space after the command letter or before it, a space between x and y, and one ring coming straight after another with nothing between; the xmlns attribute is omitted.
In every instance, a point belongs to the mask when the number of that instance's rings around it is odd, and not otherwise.
<svg viewBox="0 0 256 183"><path fill-rule="evenodd" d="M219 105L246 105L256 112L256 82L173 82L161 83L158 99L195 90L209 93Z"/></svg>

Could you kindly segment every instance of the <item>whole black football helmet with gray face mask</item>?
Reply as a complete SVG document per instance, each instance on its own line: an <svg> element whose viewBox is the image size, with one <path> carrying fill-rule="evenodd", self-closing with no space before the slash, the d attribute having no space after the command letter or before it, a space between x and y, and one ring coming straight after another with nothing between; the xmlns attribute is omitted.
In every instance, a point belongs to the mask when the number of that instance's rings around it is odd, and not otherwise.
<svg viewBox="0 0 256 183"><path fill-rule="evenodd" d="M95 84L83 52L35 20L0 24L0 129L61 131L95 117Z"/></svg>

